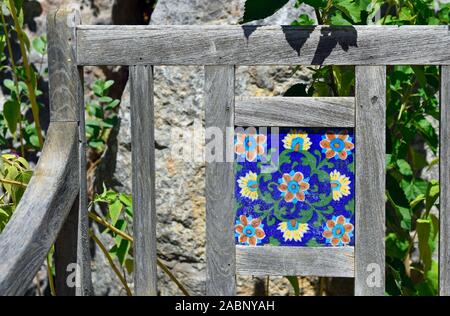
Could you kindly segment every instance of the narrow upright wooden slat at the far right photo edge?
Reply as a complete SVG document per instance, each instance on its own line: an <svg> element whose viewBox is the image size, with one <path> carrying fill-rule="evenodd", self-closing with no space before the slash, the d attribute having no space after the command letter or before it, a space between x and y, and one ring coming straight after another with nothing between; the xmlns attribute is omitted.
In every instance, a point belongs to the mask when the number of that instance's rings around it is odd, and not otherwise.
<svg viewBox="0 0 450 316"><path fill-rule="evenodd" d="M441 67L439 293L450 296L450 66Z"/></svg>

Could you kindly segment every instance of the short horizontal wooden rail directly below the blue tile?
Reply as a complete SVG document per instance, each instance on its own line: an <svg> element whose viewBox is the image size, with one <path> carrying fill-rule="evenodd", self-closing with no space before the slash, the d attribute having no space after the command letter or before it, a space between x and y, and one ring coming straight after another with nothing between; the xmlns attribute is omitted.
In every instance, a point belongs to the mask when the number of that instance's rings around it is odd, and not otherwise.
<svg viewBox="0 0 450 316"><path fill-rule="evenodd" d="M354 277L353 247L236 246L238 274Z"/></svg>

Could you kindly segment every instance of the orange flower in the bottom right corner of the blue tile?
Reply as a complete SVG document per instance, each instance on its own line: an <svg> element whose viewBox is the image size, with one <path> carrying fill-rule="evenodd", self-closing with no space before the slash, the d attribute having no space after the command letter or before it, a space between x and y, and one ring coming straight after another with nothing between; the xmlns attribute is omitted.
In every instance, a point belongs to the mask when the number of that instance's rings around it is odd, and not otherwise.
<svg viewBox="0 0 450 316"><path fill-rule="evenodd" d="M322 236L333 246L346 246L353 236L353 224L342 215L328 220Z"/></svg>

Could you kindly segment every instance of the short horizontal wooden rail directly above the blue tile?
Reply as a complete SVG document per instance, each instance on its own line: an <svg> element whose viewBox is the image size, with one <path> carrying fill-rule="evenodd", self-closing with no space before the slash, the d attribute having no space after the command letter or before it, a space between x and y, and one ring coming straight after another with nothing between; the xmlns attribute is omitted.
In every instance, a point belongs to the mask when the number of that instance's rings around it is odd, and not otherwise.
<svg viewBox="0 0 450 316"><path fill-rule="evenodd" d="M355 98L238 98L235 125L353 127Z"/></svg>

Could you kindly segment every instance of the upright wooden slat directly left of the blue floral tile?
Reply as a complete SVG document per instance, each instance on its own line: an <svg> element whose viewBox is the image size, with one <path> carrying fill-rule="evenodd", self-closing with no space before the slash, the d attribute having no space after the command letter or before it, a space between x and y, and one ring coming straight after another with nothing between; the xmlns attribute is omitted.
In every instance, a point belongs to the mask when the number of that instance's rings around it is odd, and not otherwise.
<svg viewBox="0 0 450 316"><path fill-rule="evenodd" d="M232 141L226 142L225 137L227 128L234 128L234 66L205 67L205 107L206 128L218 128L224 134L225 157L234 152ZM207 295L234 295L236 291L233 203L233 163L207 162Z"/></svg>

